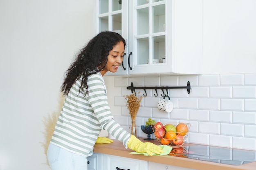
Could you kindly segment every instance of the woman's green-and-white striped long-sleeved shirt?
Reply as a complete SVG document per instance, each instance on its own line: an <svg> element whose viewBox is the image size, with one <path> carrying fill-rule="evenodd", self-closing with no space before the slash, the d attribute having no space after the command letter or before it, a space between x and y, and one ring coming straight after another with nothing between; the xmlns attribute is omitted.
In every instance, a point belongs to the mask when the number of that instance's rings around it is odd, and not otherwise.
<svg viewBox="0 0 256 170"><path fill-rule="evenodd" d="M89 93L86 96L79 92L81 79L72 85L65 99L51 143L88 157L92 155L101 129L104 129L127 148L130 133L113 119L101 73L88 76Z"/></svg>

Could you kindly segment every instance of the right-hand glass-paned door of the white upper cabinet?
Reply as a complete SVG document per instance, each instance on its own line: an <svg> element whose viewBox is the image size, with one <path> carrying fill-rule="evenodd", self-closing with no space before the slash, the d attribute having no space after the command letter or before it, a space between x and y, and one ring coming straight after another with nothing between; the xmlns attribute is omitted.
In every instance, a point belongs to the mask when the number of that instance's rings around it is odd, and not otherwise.
<svg viewBox="0 0 256 170"><path fill-rule="evenodd" d="M165 1L137 0L133 7L133 67L161 65L166 55Z"/></svg>

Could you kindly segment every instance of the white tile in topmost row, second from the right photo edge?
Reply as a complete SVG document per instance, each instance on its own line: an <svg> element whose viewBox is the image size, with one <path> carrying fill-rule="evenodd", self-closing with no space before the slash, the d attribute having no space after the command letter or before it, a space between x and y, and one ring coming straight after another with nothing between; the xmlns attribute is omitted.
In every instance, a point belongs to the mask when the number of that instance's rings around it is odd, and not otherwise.
<svg viewBox="0 0 256 170"><path fill-rule="evenodd" d="M244 74L220 74L220 85L244 85Z"/></svg>

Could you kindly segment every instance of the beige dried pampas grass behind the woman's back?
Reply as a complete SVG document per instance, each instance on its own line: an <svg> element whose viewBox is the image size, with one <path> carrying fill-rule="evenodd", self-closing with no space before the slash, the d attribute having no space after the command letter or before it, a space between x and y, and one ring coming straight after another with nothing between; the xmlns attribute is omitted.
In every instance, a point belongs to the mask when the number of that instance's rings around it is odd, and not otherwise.
<svg viewBox="0 0 256 170"><path fill-rule="evenodd" d="M50 143L50 140L52 139L52 134L54 132L54 128L56 125L56 122L58 120L58 116L60 115L61 109L62 109L62 105L64 103L65 98L63 98L61 96L60 100L59 100L59 107L58 107L58 111L53 112L52 114L47 114L47 116L43 117L43 124L45 125L45 131L43 131L43 135L45 137L45 141L44 142L40 142L44 148L44 153L46 156L46 161L47 161L47 165L49 165L48 160L47 160L47 149Z"/></svg>

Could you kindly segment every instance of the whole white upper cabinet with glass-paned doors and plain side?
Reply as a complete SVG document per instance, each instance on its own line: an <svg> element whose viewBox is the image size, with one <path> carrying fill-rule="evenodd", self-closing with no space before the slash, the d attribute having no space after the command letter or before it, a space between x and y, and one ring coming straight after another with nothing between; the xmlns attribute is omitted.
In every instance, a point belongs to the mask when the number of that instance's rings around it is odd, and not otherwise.
<svg viewBox="0 0 256 170"><path fill-rule="evenodd" d="M202 0L96 0L95 34L115 31L126 39L116 73L200 74Z"/></svg>

